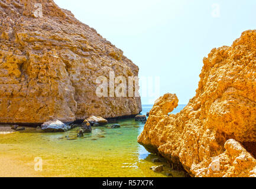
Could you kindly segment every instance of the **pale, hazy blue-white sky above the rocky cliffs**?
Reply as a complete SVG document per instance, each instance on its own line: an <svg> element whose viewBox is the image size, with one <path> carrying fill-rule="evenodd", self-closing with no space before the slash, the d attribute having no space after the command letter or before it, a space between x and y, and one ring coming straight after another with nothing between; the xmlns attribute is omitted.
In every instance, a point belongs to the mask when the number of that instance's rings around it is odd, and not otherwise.
<svg viewBox="0 0 256 189"><path fill-rule="evenodd" d="M255 0L54 2L121 48L140 67L140 77L148 82L160 77L157 96L176 93L179 104L195 96L203 57L214 47L231 45L256 25ZM148 94L142 104L152 104L155 98Z"/></svg>

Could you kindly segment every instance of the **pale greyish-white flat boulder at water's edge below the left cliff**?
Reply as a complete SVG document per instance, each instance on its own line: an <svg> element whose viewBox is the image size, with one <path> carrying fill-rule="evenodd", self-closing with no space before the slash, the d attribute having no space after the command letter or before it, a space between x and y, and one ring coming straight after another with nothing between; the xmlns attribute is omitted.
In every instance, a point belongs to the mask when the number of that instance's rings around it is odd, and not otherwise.
<svg viewBox="0 0 256 189"><path fill-rule="evenodd" d="M43 123L41 129L45 132L66 132L69 131L71 127L60 120L50 120Z"/></svg>

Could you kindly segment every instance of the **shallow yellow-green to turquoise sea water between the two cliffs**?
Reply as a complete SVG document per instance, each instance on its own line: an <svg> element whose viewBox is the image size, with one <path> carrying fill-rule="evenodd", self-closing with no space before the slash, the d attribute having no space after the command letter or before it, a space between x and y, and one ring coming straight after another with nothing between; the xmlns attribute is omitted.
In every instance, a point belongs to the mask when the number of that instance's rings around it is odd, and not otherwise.
<svg viewBox="0 0 256 189"><path fill-rule="evenodd" d="M142 114L151 107L143 106ZM183 107L178 106L173 113ZM43 171L36 172L39 177L167 177L167 173L184 177L183 172L170 170L166 162L152 162L157 156L137 143L143 123L122 119L118 124L121 128L108 129L108 125L93 128L84 138L76 138L77 128L63 133L27 128L0 135L0 156L14 158L32 171L34 159L41 158ZM164 171L150 170L157 165L164 165Z"/></svg>

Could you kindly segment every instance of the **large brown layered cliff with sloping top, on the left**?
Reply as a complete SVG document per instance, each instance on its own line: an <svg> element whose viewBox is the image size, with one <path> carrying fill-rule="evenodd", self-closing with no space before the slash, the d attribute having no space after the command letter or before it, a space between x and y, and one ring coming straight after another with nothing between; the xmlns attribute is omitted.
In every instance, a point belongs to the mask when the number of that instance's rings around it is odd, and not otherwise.
<svg viewBox="0 0 256 189"><path fill-rule="evenodd" d="M0 0L0 22L0 123L141 112L140 97L96 95L99 76L128 80L138 67L70 11L52 0Z"/></svg>

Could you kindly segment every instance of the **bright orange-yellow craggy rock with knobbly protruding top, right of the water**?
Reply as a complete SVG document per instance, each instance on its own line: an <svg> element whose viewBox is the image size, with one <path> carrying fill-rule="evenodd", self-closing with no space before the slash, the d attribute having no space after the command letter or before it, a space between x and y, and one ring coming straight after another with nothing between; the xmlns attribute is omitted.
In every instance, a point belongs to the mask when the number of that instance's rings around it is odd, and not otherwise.
<svg viewBox="0 0 256 189"><path fill-rule="evenodd" d="M196 96L176 115L175 94L155 102L138 142L196 177L256 176L256 31L203 59Z"/></svg>

